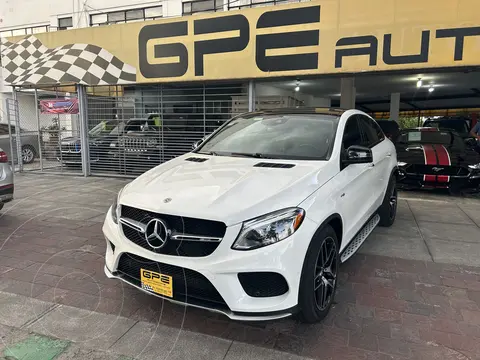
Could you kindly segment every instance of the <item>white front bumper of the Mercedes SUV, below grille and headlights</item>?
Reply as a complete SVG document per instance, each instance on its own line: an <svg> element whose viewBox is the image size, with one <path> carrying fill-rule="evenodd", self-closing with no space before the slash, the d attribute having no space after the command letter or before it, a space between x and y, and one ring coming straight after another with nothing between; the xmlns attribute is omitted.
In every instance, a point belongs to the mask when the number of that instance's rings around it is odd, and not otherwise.
<svg viewBox="0 0 480 360"><path fill-rule="evenodd" d="M107 241L105 274L164 300L222 313L234 320L273 320L294 314L298 304L298 288L303 260L310 239L317 229L317 224L305 218L300 229L288 239L250 251L231 249L240 228L241 224L227 227L225 237L211 255L204 257L172 256L156 254L134 244L123 235L121 227L115 224L108 214L103 226L103 233ZM224 306L210 303L204 305L188 297L185 299L175 296L173 298L164 297L142 289L138 281L132 281L129 276L118 271L120 258L126 254L158 262L164 268L180 267L184 269L184 273L200 274L199 276L206 278L220 294ZM283 295L273 297L249 296L238 279L238 273L243 272L278 273L285 278L288 291ZM165 274L170 275L167 272ZM185 280L186 282L187 280ZM175 289L175 282L173 287Z"/></svg>

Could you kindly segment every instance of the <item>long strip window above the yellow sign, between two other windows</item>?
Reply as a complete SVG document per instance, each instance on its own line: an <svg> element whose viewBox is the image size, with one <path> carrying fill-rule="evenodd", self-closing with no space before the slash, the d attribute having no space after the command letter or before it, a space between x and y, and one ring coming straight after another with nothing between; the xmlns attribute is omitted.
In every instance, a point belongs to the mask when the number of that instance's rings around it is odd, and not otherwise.
<svg viewBox="0 0 480 360"><path fill-rule="evenodd" d="M90 26L156 20L161 18L162 16L163 9L161 6L154 6L142 9L112 11L107 13L90 15Z"/></svg>

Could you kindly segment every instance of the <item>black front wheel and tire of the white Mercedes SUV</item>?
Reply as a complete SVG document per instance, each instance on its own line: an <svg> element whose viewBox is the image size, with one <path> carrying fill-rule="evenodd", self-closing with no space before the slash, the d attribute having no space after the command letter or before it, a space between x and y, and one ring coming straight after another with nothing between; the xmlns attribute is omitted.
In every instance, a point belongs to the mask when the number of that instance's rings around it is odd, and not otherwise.
<svg viewBox="0 0 480 360"><path fill-rule="evenodd" d="M313 237L305 256L300 278L298 294L300 321L316 323L323 320L330 311L337 290L340 264L338 249L337 235L330 225L325 226ZM331 258L324 261L324 254L330 254ZM322 255L323 258L321 258ZM329 261L330 266L328 266ZM322 266L322 263L323 265L326 263L327 266ZM327 293L324 292L325 290ZM325 297L322 298L322 295Z"/></svg>

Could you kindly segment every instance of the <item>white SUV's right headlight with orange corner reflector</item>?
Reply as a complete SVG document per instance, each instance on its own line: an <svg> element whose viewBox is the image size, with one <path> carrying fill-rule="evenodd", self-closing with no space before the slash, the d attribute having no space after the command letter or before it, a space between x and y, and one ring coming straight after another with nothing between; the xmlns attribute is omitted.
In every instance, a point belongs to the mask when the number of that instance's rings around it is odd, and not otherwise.
<svg viewBox="0 0 480 360"><path fill-rule="evenodd" d="M305 210L290 208L246 221L232 249L253 250L285 240L298 230L304 217Z"/></svg>

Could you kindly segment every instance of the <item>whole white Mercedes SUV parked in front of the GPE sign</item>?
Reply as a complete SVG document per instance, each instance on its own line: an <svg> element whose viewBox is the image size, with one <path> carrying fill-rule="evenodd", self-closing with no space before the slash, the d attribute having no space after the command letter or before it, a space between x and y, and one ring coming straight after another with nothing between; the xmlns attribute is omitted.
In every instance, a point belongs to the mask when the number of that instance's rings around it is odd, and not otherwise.
<svg viewBox="0 0 480 360"><path fill-rule="evenodd" d="M236 320L320 321L339 264L393 224L396 172L394 145L361 111L234 117L119 192L105 273Z"/></svg>

